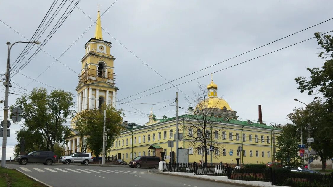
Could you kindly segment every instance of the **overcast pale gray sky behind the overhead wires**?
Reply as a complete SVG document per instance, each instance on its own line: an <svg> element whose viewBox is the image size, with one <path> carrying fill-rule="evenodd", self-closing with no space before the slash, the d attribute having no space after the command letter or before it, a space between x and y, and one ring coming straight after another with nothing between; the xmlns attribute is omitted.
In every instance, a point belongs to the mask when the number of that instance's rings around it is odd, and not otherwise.
<svg viewBox="0 0 333 187"><path fill-rule="evenodd" d="M0 20L30 39L52 2L0 1ZM100 4L100 11L103 14L113 2L109 0L82 0L78 4L78 8L96 20L98 4ZM118 0L101 17L102 28L110 34L103 31L103 39L112 42L111 54L117 58L114 63L115 73L118 73L116 86L120 88L117 92L117 100L166 83L165 79L136 56L168 81L171 81L328 20L333 17L332 4L332 1L301 0ZM60 29L43 47L43 50L55 58L58 58L93 24L93 21L78 8L74 9ZM6 67L6 42L26 41L4 23L0 22L1 73L5 72ZM287 39L174 81L172 84L180 84L303 41L313 37L315 32L328 32L333 29L332 23L333 21L323 23ZM60 62L55 62L36 80L76 94L77 73L80 72L80 60L85 54L84 44L94 37L94 32L95 24L59 58L59 61L76 73ZM45 37L46 35L40 41L43 41ZM24 44L16 44L12 48L11 62L14 62L24 46ZM36 48L34 47L34 49ZM213 79L218 85L217 94L222 96L233 110L237 111L240 120L256 121L258 119L258 104L261 104L263 121L267 124L270 122L288 123L286 115L291 113L294 107L303 107L301 103L295 102L294 98L298 98L305 103L312 101L314 98L314 96L308 96L306 93L300 93L297 90L294 78L300 75L309 75L306 70L307 67L322 66L323 60L317 57L320 51L316 40L312 39L215 73ZM55 61L47 53L40 51L20 73L35 79ZM31 82L31 79L20 74L15 75L12 80L22 87ZM207 85L210 82L210 76L179 85L178 88L188 96L193 97L193 91L198 91L197 82ZM11 89L11 92L15 93L15 91L20 90L17 89L19 86L13 84L13 87L16 88L14 88L15 90ZM123 101L136 99L170 86L170 84L166 84ZM36 81L25 88L33 89L35 87L45 87L49 91L53 90L53 88ZM4 88L0 88L0 100L4 99ZM185 100L187 96L181 91L170 88L133 102L155 103L166 101L158 103L166 105L171 103L171 100L175 98L175 93L179 92L179 106L187 109L188 103ZM20 92L26 91L22 90ZM9 104L13 104L16 97L18 95L10 94ZM3 104L1 105L3 107ZM156 111L161 109L163 105L135 104L129 106L121 104L117 107L126 110L124 120L144 124L148 121L151 107L153 107L153 111ZM162 117L164 114L173 117L175 112L167 112L173 110L175 110L174 106L167 106L158 112L154 112L154 114L157 117ZM186 110L180 110L179 114L185 112ZM3 113L0 116L0 118L3 118ZM70 121L67 123L69 125ZM11 137L7 140L7 159L12 156L12 147L17 143L14 130L18 130L20 126L12 125L10 128ZM2 143L2 138L0 143Z"/></svg>

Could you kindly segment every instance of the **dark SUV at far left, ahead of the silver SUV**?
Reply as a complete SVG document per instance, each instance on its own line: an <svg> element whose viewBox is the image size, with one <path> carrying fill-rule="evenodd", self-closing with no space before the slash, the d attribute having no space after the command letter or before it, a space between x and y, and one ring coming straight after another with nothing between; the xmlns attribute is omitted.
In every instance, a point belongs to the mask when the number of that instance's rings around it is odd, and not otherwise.
<svg viewBox="0 0 333 187"><path fill-rule="evenodd" d="M53 151L32 151L29 154L18 155L15 160L20 164L42 163L52 165L56 162L57 155Z"/></svg>

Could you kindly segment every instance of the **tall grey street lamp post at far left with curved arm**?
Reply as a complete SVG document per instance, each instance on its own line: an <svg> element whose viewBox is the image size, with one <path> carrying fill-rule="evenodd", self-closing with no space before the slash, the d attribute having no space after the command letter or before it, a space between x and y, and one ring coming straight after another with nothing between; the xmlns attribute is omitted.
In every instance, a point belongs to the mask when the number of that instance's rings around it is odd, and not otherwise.
<svg viewBox="0 0 333 187"><path fill-rule="evenodd" d="M16 43L31 43L31 44L41 44L38 41L34 42L15 42ZM10 49L14 46L10 42L6 43L8 45L8 56L7 56L7 65L6 65L6 81L3 82L3 85L6 87L5 90L5 107L3 108L3 137L2 137L2 158L1 158L1 167L6 167L6 146L7 146L7 124L8 124L8 93L9 87L12 87L10 84Z"/></svg>

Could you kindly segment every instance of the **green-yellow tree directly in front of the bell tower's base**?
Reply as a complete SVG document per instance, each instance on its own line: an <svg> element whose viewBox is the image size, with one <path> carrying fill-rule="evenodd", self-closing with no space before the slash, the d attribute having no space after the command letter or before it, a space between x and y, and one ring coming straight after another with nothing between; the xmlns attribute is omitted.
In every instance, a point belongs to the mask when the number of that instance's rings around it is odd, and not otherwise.
<svg viewBox="0 0 333 187"><path fill-rule="evenodd" d="M106 107L106 150L111 147L112 142L120 134L122 130L121 122L123 110L116 110L114 107ZM81 151L90 149L96 156L102 153L103 149L103 122L104 109L86 110L77 116L76 130L83 140L83 145L80 145Z"/></svg>

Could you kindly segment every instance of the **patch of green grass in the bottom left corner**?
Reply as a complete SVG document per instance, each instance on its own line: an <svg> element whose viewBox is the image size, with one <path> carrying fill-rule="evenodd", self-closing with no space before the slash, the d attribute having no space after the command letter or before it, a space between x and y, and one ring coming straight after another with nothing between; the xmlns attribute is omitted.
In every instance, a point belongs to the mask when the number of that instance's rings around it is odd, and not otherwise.
<svg viewBox="0 0 333 187"><path fill-rule="evenodd" d="M44 186L43 184L30 179L25 174L0 167L0 186Z"/></svg>

